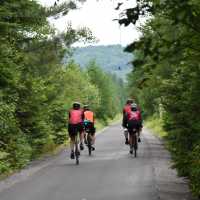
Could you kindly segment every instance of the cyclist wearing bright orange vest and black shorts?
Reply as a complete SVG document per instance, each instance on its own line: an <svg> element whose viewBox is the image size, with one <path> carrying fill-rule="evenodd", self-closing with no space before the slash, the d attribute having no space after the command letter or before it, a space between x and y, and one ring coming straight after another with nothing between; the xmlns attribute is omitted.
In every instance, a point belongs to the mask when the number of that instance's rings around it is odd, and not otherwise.
<svg viewBox="0 0 200 200"><path fill-rule="evenodd" d="M85 129L89 129L91 137L92 137L92 150L95 150L94 143L95 143L95 127L94 127L94 113L90 110L88 105L84 105L84 127ZM86 132L85 132L85 143L86 141Z"/></svg>

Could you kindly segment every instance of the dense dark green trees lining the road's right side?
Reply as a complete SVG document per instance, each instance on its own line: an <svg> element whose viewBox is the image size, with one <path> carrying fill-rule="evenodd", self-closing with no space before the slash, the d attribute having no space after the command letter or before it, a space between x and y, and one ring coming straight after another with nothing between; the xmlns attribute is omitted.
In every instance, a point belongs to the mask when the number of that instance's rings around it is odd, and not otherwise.
<svg viewBox="0 0 200 200"><path fill-rule="evenodd" d="M125 25L149 15L142 37L126 48L136 56L131 94L146 116L163 119L175 166L200 197L199 0L138 0L126 14Z"/></svg>

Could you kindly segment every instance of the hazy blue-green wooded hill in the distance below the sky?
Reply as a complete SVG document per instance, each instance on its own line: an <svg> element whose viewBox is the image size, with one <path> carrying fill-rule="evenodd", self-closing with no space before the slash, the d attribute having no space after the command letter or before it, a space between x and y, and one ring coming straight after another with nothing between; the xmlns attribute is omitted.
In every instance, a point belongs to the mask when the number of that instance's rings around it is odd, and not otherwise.
<svg viewBox="0 0 200 200"><path fill-rule="evenodd" d="M104 71L115 73L125 79L126 74L132 69L130 62L133 55L125 53L121 45L88 46L76 48L72 58L81 67L95 60Z"/></svg>

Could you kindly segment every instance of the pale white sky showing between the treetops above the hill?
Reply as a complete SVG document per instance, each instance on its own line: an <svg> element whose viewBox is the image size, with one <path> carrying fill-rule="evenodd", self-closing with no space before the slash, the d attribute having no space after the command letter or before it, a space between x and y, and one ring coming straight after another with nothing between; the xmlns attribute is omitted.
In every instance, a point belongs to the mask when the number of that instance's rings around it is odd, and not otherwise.
<svg viewBox="0 0 200 200"><path fill-rule="evenodd" d="M55 0L37 1L44 6L52 6L55 2ZM121 44L126 46L138 39L140 34L133 25L124 27L119 26L117 21L113 21L119 18L119 11L114 9L117 2L117 0L87 0L84 4L80 4L79 9L72 10L68 15L57 20L50 19L50 22L60 31L63 31L69 22L72 23L73 28L88 27L98 39L98 43L92 45ZM121 10L134 6L134 0L121 0L120 2L124 2ZM78 43L76 45L87 46L89 44Z"/></svg>

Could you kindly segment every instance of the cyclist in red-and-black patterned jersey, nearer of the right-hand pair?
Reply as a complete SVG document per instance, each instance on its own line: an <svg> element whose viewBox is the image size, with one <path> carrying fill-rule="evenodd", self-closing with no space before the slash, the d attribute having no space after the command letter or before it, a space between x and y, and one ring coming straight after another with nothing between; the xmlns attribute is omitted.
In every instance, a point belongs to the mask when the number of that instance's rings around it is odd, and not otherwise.
<svg viewBox="0 0 200 200"><path fill-rule="evenodd" d="M141 114L138 110L137 104L131 104L131 111L126 114L127 118L127 127L129 132L129 143L130 143L130 153L133 153L133 141L134 137L133 134L139 133L140 130L140 121L141 121ZM134 131L134 129L136 131Z"/></svg>

